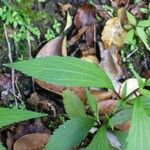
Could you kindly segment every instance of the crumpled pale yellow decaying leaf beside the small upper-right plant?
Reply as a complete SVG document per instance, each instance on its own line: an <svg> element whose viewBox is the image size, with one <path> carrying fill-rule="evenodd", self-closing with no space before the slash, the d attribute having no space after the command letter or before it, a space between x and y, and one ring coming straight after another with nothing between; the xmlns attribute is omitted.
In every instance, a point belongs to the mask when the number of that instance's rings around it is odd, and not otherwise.
<svg viewBox="0 0 150 150"><path fill-rule="evenodd" d="M119 9L118 17L111 18L106 22L102 32L102 41L105 49L110 48L112 45L116 45L118 48L123 47L127 32L121 25L120 19L122 15L124 15L124 9Z"/></svg>

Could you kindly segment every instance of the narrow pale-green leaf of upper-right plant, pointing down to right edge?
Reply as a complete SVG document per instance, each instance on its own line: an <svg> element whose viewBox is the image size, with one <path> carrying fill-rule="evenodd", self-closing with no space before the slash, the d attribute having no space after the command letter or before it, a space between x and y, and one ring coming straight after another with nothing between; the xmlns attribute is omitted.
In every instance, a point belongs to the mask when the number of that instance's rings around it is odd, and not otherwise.
<svg viewBox="0 0 150 150"><path fill-rule="evenodd" d="M136 27L136 32L137 32L138 36L140 37L141 41L146 46L146 48L150 51L150 47L149 47L148 41L147 41L148 38L147 38L147 35L146 35L144 29L141 27Z"/></svg>

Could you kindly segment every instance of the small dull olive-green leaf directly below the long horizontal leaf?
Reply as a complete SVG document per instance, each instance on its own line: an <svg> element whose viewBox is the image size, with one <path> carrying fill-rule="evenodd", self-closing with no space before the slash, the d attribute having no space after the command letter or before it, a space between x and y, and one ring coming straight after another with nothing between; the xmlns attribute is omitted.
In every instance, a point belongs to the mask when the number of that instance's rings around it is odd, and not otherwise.
<svg viewBox="0 0 150 150"><path fill-rule="evenodd" d="M71 91L64 91L64 107L69 118L86 117L85 106L80 98Z"/></svg>

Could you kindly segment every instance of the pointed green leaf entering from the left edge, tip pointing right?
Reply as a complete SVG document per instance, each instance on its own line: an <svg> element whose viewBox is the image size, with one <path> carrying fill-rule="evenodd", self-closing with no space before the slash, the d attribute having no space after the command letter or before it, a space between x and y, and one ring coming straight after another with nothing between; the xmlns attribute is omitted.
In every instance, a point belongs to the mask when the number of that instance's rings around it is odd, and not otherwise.
<svg viewBox="0 0 150 150"><path fill-rule="evenodd" d="M32 118L39 118L47 116L46 114L27 111L27 110L18 110L18 109L9 109L9 108L0 108L0 128L3 128L7 125L29 120Z"/></svg>

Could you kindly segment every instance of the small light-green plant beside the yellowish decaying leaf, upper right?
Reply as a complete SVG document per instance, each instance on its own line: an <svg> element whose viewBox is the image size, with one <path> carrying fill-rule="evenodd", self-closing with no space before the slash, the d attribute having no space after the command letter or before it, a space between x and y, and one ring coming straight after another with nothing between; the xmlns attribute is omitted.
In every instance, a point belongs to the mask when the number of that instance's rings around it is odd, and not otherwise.
<svg viewBox="0 0 150 150"><path fill-rule="evenodd" d="M150 36L150 18L146 20L138 21L131 13L127 12L127 18L129 21L125 28L128 30L125 43L130 45L130 49L134 50L139 46L139 42L142 42L145 47L150 51L149 36ZM140 41L139 41L140 39Z"/></svg>

